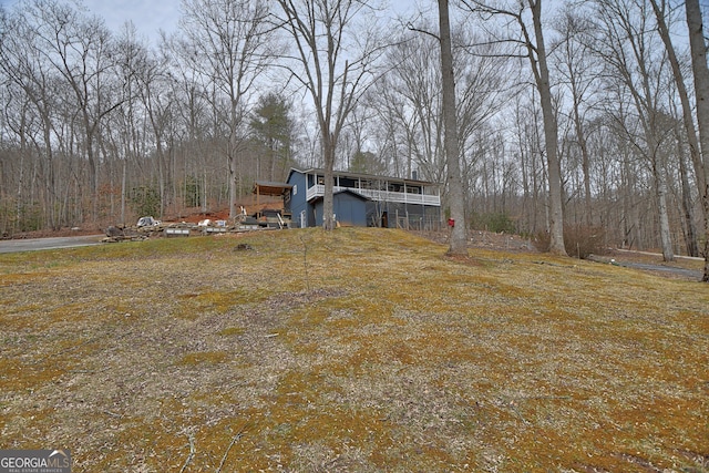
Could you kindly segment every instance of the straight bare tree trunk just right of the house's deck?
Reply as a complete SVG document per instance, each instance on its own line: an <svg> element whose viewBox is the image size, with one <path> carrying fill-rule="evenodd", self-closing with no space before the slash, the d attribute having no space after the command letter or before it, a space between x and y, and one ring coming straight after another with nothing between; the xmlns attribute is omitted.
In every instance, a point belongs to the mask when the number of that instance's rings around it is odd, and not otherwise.
<svg viewBox="0 0 709 473"><path fill-rule="evenodd" d="M443 85L443 120L445 122L445 158L448 163L449 202L451 206L451 246L449 255L467 255L467 225L465 203L461 182L460 150L458 143L458 117L455 111L455 79L453 73L453 51L451 47L451 24L448 0L439 0L439 24L441 41L441 70Z"/></svg>

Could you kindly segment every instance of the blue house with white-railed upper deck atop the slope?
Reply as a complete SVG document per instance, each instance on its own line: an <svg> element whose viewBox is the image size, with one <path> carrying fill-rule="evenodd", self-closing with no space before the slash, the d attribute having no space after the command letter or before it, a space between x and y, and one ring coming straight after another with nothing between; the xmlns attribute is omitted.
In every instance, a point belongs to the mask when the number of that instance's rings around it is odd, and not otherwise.
<svg viewBox="0 0 709 473"><path fill-rule="evenodd" d="M336 171L332 206L343 226L434 229L441 196L433 183ZM284 210L297 228L322 225L325 171L290 169Z"/></svg>

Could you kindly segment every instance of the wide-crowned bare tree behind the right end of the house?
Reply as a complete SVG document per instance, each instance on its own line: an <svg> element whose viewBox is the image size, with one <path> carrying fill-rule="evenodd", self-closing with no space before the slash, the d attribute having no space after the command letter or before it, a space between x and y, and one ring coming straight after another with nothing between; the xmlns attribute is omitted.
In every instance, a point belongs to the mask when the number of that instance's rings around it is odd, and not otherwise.
<svg viewBox="0 0 709 473"><path fill-rule="evenodd" d="M448 182L448 157L444 150L444 112L441 45L435 25L428 21L410 25L389 49L387 62L395 64L378 82L370 106L377 110L377 126L390 130L389 136L402 161L392 160L412 168L430 181ZM465 28L452 27L453 82L455 86L455 119L459 146L460 178L463 183L463 212L469 220L469 208L481 154L479 136L510 94L506 88L510 64L495 56L493 45L470 54L466 49L474 35ZM415 166L415 167L413 167ZM398 171L402 173L402 171ZM453 197L449 186L443 187L442 202L450 209ZM458 224L458 222L456 222ZM467 223L466 223L467 226Z"/></svg>

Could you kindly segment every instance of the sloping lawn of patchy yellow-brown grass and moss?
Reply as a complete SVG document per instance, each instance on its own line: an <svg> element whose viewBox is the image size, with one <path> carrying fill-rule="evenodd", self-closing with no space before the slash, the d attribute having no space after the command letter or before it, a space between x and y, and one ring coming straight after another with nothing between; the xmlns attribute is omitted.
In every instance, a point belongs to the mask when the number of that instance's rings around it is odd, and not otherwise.
<svg viewBox="0 0 709 473"><path fill-rule="evenodd" d="M0 448L73 472L707 472L709 287L340 228L0 255Z"/></svg>

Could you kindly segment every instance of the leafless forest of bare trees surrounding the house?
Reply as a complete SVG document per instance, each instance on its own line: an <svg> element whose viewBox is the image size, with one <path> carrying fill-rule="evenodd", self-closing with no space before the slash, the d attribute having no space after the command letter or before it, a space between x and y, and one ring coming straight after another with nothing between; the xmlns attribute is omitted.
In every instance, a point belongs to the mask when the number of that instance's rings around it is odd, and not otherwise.
<svg viewBox="0 0 709 473"><path fill-rule="evenodd" d="M183 0L153 40L80 3L0 6L0 234L235 212L323 167L439 183L442 218L454 198L530 237L556 184L565 232L703 256L696 0L451 0L458 169L430 3Z"/></svg>

